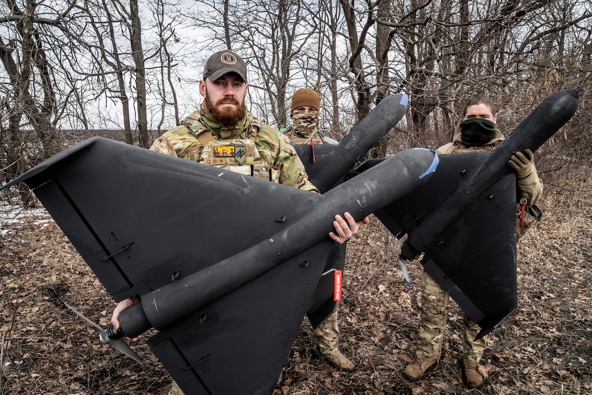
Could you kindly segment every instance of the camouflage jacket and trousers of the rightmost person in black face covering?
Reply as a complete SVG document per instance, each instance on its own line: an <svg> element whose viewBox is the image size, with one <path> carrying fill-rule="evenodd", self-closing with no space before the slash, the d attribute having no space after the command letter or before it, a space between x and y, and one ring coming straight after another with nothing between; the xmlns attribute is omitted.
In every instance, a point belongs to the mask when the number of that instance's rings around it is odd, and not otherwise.
<svg viewBox="0 0 592 395"><path fill-rule="evenodd" d="M497 136L491 139L487 144L478 147L468 147L461 142L461 133L454 136L452 143L448 143L436 150L439 154L463 153L463 152L482 152L495 149L504 137L499 131ZM536 174L536 168L532 166L532 172L524 179L516 180L520 190L519 198L526 198L530 205L538 201L542 194L543 184ZM446 306L448 305L448 293L430 276L423 272L422 276L422 306L419 317L419 334L417 335L416 357L419 360L429 361L438 359L440 348L446 326ZM478 341L472 341L477 336L481 328L469 317L464 314L465 339L463 343L462 358L465 362L479 363L487 336Z"/></svg>

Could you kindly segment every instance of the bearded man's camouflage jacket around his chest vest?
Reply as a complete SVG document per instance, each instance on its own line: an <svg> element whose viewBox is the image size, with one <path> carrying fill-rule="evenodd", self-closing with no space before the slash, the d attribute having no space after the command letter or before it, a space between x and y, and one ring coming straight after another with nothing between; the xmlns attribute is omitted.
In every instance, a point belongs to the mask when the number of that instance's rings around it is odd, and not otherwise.
<svg viewBox="0 0 592 395"><path fill-rule="evenodd" d="M194 111L193 114L185 118L181 125L170 129L156 139L150 149L179 158L203 162L201 156L204 145L199 136L202 133L210 134L210 139L214 140L252 139L260 159L269 168L279 172L278 181L280 184L318 192L317 188L308 181L304 165L287 137L272 127L261 124L250 113L247 113L242 122L231 128L224 127L208 115L202 104L200 110Z"/></svg>

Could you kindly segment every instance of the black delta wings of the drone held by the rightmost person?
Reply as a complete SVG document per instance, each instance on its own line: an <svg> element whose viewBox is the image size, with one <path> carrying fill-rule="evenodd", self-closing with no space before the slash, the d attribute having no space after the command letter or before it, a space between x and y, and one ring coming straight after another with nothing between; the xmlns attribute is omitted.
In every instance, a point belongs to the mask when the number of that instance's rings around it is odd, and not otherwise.
<svg viewBox="0 0 592 395"><path fill-rule="evenodd" d="M439 155L437 171L375 215L398 237L413 229L458 189L463 171L490 153ZM503 176L462 210L424 249L427 272L478 323L485 335L517 308L516 181ZM403 247L405 251L405 246Z"/></svg>

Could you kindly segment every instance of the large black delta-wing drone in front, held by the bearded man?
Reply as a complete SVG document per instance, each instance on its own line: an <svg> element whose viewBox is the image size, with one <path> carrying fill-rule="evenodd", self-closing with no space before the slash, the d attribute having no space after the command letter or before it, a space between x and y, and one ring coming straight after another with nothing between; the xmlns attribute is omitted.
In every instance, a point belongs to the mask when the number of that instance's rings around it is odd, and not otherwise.
<svg viewBox="0 0 592 395"><path fill-rule="evenodd" d="M433 159L407 150L320 195L95 137L5 187L33 188L114 300L140 297L121 329L159 330L149 344L185 393L265 394L313 304L334 215L397 200Z"/></svg>

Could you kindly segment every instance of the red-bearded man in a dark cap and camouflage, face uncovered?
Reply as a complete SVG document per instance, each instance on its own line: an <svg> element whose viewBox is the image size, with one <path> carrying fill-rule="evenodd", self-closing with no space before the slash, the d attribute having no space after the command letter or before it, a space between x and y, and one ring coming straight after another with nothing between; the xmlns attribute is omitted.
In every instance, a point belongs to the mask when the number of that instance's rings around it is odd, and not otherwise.
<svg viewBox="0 0 592 395"><path fill-rule="evenodd" d="M214 53L205 63L200 81L200 94L204 97L200 110L156 139L150 149L318 192L308 181L304 165L287 137L260 123L247 111L244 104L248 88L246 77L247 68L239 55L230 50ZM329 237L343 243L358 232L362 223L368 223L368 219L356 223L349 213L343 217L336 215L335 232L330 232ZM120 326L121 311L135 303L137 298L128 298L115 307L111 323L116 329ZM170 394L182 394L174 381Z"/></svg>

